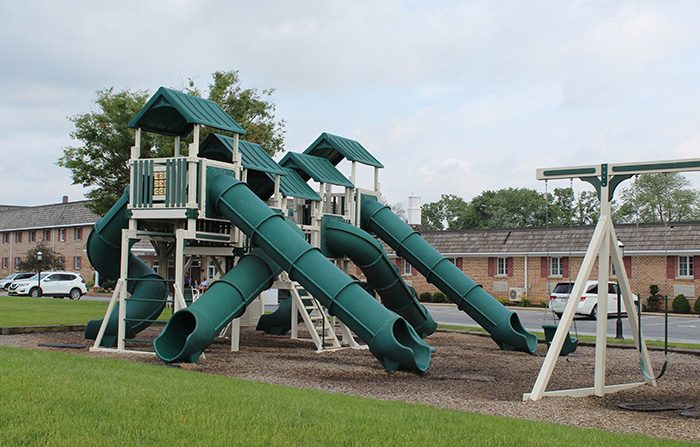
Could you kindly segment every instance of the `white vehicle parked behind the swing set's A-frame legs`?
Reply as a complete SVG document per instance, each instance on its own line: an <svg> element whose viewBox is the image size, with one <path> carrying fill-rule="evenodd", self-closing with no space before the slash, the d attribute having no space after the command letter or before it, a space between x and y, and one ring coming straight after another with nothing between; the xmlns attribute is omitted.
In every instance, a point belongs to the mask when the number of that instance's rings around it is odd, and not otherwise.
<svg viewBox="0 0 700 447"><path fill-rule="evenodd" d="M549 309L558 317L564 313L566 303L569 301L569 296L574 288L573 282L560 282L549 296ZM579 298L576 306L576 315L585 315L592 319L598 317L598 281L586 281L584 292ZM639 301L639 297L632 294L635 304ZM622 313L626 313L625 303L620 298L622 304ZM617 314L617 284L614 282L608 283L608 315Z"/></svg>

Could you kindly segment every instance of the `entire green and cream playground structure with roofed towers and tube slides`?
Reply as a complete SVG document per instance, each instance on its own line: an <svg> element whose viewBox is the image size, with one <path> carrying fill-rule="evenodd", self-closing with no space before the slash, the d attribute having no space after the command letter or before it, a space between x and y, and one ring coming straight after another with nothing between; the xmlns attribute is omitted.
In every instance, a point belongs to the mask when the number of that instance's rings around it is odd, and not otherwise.
<svg viewBox="0 0 700 447"><path fill-rule="evenodd" d="M383 165L357 141L323 133L304 153L288 152L277 164L241 139L244 129L218 105L162 87L129 126L135 129L131 183L87 243L100 275L118 280L105 318L88 323L93 350L129 351L127 344L163 311L171 289L175 313L153 341L155 353L165 362L196 362L232 321L235 338L246 308L275 287L290 290L291 298L261 316L259 329L283 333L288 322L295 335L301 318L320 350L326 336L331 347L341 345L337 319L343 342L357 347L357 336L385 369L425 372L433 349L423 339L437 325L376 236L501 349L534 353L537 339L514 312L379 202ZM142 159L144 131L172 137L173 157ZM210 133L202 139L204 131ZM343 160L350 163L349 178L336 168ZM356 185L358 164L374 170L371 188ZM137 240L174 244L172 284L130 254ZM220 279L194 300L184 276L201 256L223 262L216 263ZM381 303L348 275L350 261Z"/></svg>

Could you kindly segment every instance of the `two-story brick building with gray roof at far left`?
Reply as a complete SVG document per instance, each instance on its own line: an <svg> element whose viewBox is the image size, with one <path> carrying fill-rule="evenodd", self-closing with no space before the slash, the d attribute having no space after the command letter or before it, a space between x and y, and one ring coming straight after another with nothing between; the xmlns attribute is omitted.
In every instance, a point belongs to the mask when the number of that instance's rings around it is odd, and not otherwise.
<svg viewBox="0 0 700 447"><path fill-rule="evenodd" d="M94 270L85 252L85 242L99 216L87 201L40 206L0 206L0 275L19 271L17 265L39 242L59 256L57 268L79 272L86 280Z"/></svg>

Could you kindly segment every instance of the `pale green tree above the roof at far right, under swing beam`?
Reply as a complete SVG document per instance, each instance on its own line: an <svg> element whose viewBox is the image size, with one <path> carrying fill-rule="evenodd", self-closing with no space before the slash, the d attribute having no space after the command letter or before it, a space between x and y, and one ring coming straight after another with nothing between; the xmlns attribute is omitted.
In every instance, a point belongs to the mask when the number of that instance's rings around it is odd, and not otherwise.
<svg viewBox="0 0 700 447"><path fill-rule="evenodd" d="M622 191L627 221L679 222L700 218L700 192L683 175L642 174Z"/></svg>

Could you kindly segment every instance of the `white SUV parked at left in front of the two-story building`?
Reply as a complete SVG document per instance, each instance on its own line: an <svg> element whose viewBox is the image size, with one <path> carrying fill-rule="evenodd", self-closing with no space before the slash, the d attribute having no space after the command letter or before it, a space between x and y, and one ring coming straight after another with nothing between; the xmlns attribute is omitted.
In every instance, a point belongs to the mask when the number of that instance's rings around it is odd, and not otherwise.
<svg viewBox="0 0 700 447"><path fill-rule="evenodd" d="M87 293L87 284L79 273L45 272L41 279L37 275L15 281L10 286L10 295L29 295L32 297L57 296L78 300Z"/></svg>

